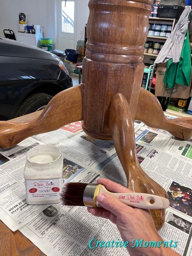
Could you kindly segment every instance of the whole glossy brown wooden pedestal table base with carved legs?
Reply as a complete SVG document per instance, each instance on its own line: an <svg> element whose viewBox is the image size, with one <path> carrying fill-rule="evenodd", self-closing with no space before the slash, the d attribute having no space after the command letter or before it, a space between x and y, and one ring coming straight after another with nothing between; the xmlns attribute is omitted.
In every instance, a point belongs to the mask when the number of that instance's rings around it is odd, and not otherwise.
<svg viewBox="0 0 192 256"><path fill-rule="evenodd" d="M167 197L141 169L134 139L134 119L176 137L192 136L191 118L167 119L157 98L141 88L143 52L153 0L90 0L83 83L57 94L46 109L17 122L0 122L0 147L9 148L34 134L82 120L83 130L113 139L133 191ZM28 117L29 118L29 117ZM157 230L164 210L151 210Z"/></svg>

